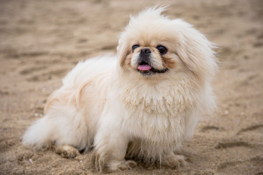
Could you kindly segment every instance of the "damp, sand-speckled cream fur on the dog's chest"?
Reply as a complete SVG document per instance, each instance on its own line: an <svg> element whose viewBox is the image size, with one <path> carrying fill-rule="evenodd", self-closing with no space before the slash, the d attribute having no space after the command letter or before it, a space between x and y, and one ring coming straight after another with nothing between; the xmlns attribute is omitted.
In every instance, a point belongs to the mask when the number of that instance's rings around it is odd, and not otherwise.
<svg viewBox="0 0 263 175"><path fill-rule="evenodd" d="M196 103L192 86L185 81L165 87L123 85L119 98L129 114L127 121L136 126L135 135L154 142L183 137Z"/></svg>

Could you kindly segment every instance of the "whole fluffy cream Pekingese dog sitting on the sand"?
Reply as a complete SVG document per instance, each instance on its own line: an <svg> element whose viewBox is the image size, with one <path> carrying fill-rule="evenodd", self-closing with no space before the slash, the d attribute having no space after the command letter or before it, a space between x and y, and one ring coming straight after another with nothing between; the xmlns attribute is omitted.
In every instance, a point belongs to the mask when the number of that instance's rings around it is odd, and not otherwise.
<svg viewBox="0 0 263 175"><path fill-rule="evenodd" d="M136 166L129 158L177 167L173 151L215 107L211 80L216 46L181 19L151 7L131 17L117 56L79 62L45 105L23 144L52 147L64 157L94 147L102 170Z"/></svg>

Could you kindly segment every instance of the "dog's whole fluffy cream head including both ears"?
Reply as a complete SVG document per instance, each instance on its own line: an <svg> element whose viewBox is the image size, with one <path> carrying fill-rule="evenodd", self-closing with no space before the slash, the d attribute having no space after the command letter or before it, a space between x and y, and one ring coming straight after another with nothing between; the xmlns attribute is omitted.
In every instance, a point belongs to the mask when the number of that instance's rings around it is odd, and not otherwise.
<svg viewBox="0 0 263 175"><path fill-rule="evenodd" d="M203 79L218 69L216 46L181 19L161 14L164 8L147 8L131 17L120 34L117 47L122 73L140 77L165 78L179 72Z"/></svg>

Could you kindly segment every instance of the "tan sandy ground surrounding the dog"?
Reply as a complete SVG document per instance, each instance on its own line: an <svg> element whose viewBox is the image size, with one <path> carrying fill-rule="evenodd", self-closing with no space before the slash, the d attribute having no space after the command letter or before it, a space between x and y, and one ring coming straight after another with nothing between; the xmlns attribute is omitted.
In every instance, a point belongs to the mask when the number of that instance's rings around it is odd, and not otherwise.
<svg viewBox="0 0 263 175"><path fill-rule="evenodd" d="M130 13L159 1L0 1L0 174L93 174L92 153L66 159L21 144L45 100L80 61L115 52ZM200 121L182 169L148 166L113 174L263 174L263 1L165 1L221 46L218 111Z"/></svg>

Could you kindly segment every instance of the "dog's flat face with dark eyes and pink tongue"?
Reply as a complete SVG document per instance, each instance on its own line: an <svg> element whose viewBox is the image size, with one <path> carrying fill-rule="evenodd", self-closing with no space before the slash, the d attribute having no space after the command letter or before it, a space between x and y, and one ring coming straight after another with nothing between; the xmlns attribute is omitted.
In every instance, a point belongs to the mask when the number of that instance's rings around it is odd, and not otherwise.
<svg viewBox="0 0 263 175"><path fill-rule="evenodd" d="M124 70L130 69L142 76L164 76L167 71L175 72L183 68L184 64L174 48L174 40L171 40L173 37L166 36L165 30L149 30L147 35L146 31L140 31L139 36L132 34L128 39L130 45L124 58Z"/></svg>

